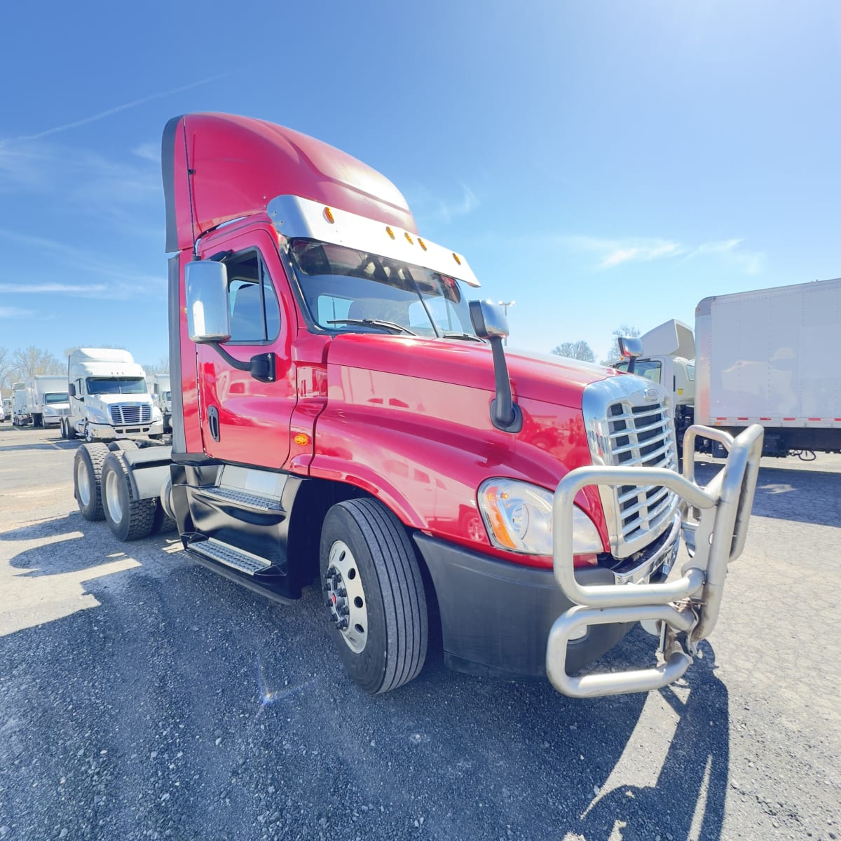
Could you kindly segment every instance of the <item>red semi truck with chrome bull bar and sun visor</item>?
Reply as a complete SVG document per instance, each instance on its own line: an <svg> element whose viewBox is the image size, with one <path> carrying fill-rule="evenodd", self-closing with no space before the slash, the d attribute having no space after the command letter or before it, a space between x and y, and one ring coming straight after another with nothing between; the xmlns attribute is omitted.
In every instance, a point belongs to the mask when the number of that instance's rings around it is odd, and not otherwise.
<svg viewBox="0 0 841 841"><path fill-rule="evenodd" d="M722 473L680 475L662 389L506 352L465 258L319 140L189 114L162 170L172 444L82 445L87 519L121 539L174 521L193 558L278 600L320 587L371 693L420 672L433 616L454 669L572 696L683 674L741 551L761 432L710 432ZM666 582L681 532L697 551ZM639 620L658 666L570 676Z"/></svg>

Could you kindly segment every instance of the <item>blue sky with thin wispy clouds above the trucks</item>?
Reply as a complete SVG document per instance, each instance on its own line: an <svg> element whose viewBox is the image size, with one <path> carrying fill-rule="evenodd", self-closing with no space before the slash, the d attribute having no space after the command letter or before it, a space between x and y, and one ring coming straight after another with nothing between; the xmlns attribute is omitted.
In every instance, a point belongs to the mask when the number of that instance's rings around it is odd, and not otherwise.
<svg viewBox="0 0 841 841"><path fill-rule="evenodd" d="M161 130L268 119L388 176L510 347L841 275L838 3L40 3L3 12L0 346L167 353Z"/></svg>

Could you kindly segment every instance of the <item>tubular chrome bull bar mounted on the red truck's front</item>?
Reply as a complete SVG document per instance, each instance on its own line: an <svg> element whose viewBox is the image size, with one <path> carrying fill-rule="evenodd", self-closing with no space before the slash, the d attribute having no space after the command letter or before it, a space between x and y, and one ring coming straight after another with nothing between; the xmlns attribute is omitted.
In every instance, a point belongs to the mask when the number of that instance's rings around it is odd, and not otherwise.
<svg viewBox="0 0 841 841"><path fill-rule="evenodd" d="M695 480L696 437L728 451L727 461L708 484ZM555 620L548 637L546 670L555 689L575 698L646 692L678 680L692 663L697 644L716 625L727 564L742 553L754 504L763 428L748 426L736 438L707 426L690 426L684 438L683 475L666 468L592 467L571 471L558 484L553 502L555 580L574 606ZM682 577L660 584L585 586L573 568L573 500L587 485L662 485L680 496L681 532L690 549ZM588 625L659 621L664 662L649 669L570 677L567 646Z"/></svg>

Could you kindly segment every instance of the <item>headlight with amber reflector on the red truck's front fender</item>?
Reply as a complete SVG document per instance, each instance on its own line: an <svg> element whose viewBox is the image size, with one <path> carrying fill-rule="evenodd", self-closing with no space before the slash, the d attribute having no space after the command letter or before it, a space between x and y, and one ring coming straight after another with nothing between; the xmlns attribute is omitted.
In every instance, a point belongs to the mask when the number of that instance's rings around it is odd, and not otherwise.
<svg viewBox="0 0 841 841"><path fill-rule="evenodd" d="M479 486L479 510L490 541L500 549L552 554L552 491L516 479L488 479ZM590 517L573 508L573 553L603 551Z"/></svg>

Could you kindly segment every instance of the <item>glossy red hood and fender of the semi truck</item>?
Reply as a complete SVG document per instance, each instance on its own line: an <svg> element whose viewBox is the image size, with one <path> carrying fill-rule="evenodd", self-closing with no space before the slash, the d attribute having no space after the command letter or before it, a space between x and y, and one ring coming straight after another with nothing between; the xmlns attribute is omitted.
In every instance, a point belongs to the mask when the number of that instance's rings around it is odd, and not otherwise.
<svg viewBox="0 0 841 841"><path fill-rule="evenodd" d="M554 489L570 470L592 463L582 394L590 383L622 376L560 357L510 352L507 360L523 417L516 434L490 419L489 345L336 336L311 475L357 484L413 528L497 553L477 509L479 485L500 476ZM582 490L577 501L607 545L598 490ZM524 556L520 563L551 560Z"/></svg>

